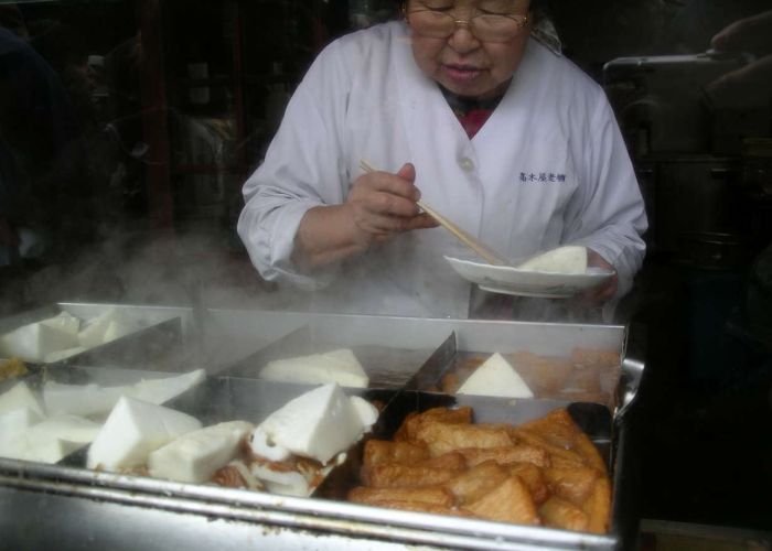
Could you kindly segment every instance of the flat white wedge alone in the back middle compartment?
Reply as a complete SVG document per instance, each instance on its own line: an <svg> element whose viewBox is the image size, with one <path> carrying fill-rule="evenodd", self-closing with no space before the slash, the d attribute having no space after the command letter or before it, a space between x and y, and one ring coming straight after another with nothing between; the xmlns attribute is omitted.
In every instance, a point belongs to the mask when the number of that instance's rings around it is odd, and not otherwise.
<svg viewBox="0 0 772 551"><path fill-rule="evenodd" d="M324 385L337 382L342 387L367 388L369 378L349 348L323 354L270 361L260 370L261 379Z"/></svg>

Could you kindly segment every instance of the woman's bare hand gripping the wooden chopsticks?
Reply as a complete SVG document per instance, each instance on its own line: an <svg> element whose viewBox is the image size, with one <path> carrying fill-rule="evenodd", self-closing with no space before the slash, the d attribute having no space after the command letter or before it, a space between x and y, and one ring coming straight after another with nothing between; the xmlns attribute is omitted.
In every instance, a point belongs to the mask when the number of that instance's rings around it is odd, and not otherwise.
<svg viewBox="0 0 772 551"><path fill-rule="evenodd" d="M356 242L367 246L404 231L437 226L437 222L416 205L421 194L415 180L416 169L410 163L396 174L375 171L356 179L345 203Z"/></svg>

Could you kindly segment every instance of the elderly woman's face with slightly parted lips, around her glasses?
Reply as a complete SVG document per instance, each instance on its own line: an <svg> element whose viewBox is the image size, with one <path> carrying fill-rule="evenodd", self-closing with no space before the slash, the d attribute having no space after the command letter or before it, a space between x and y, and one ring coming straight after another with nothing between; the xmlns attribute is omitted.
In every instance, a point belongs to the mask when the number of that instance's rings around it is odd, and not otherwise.
<svg viewBox="0 0 772 551"><path fill-rule="evenodd" d="M529 0L409 0L410 12L432 9L468 20L476 14L526 15ZM483 42L467 25L458 24L447 39L421 35L411 28L412 55L418 67L450 91L486 98L506 89L517 69L528 37L528 26L506 42Z"/></svg>

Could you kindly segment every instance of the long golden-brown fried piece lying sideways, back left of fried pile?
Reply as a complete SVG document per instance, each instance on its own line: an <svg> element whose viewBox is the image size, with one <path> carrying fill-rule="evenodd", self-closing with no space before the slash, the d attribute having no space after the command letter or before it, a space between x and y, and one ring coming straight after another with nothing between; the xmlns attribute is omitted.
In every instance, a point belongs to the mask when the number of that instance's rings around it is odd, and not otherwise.
<svg viewBox="0 0 772 551"><path fill-rule="evenodd" d="M468 447L512 445L508 431L498 425L427 422L416 431L416 440L426 442L432 457Z"/></svg>

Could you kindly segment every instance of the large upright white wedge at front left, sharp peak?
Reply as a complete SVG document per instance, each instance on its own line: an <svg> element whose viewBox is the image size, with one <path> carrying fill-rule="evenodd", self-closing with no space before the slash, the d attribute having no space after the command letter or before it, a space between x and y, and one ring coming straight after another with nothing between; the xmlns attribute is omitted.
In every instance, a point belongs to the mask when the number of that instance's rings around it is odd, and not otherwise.
<svg viewBox="0 0 772 551"><path fill-rule="evenodd" d="M197 419L163 406L122 397L88 450L89 468L143 465L150 452L201 429Z"/></svg>

